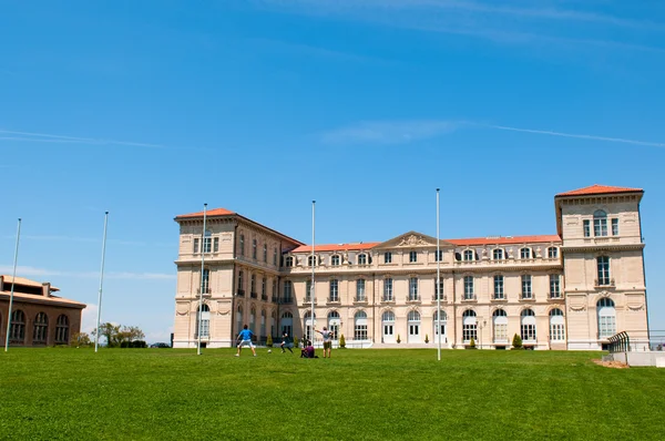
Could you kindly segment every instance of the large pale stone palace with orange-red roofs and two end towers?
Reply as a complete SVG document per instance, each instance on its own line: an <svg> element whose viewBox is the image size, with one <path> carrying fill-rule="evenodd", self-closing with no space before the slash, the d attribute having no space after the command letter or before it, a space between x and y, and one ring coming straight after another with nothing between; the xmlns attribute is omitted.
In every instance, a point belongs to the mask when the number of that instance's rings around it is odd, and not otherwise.
<svg viewBox="0 0 665 441"><path fill-rule="evenodd" d="M646 348L643 194L561 193L556 234L442 239L439 254L417 232L313 253L224 208L206 212L205 232L203 212L180 215L174 347L196 346L198 320L208 348L233 346L245 324L264 341L309 337L314 300L316 327L349 347L433 346L440 335L444 348L507 349L519 335L534 349L593 350L627 331Z"/></svg>

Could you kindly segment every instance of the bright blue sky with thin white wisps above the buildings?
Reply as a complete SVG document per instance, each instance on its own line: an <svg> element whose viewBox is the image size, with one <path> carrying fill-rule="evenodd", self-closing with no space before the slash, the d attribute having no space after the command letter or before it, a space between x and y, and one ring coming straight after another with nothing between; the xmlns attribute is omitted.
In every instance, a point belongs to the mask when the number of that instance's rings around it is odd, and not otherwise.
<svg viewBox="0 0 665 441"><path fill-rule="evenodd" d="M637 3L637 4L633 4ZM556 193L645 188L665 329L661 1L0 2L0 270L166 340L177 214L309 242L555 233Z"/></svg>

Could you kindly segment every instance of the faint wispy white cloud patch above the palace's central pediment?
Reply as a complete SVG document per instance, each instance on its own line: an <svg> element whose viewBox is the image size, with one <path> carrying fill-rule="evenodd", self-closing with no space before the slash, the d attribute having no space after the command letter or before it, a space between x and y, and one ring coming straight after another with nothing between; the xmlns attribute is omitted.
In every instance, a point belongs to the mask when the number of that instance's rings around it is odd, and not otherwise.
<svg viewBox="0 0 665 441"><path fill-rule="evenodd" d="M321 135L327 144L405 144L453 132L461 123L441 120L365 121Z"/></svg>

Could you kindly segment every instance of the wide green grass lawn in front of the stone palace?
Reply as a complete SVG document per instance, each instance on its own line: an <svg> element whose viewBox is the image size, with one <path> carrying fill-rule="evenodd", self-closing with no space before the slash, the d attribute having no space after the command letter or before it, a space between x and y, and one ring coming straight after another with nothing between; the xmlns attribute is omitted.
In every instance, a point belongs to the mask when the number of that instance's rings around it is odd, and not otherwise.
<svg viewBox="0 0 665 441"><path fill-rule="evenodd" d="M0 439L665 439L665 369L598 352L24 349Z"/></svg>

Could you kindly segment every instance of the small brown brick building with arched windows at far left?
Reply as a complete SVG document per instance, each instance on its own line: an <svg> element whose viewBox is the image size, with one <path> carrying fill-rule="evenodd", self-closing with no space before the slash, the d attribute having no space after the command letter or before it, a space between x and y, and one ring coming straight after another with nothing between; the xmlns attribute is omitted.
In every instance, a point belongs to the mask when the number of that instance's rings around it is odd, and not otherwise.
<svg viewBox="0 0 665 441"><path fill-rule="evenodd" d="M7 336L11 276L0 275L0 339ZM71 336L81 331L84 304L54 296L60 289L50 283L17 277L9 330L11 346L69 345Z"/></svg>

